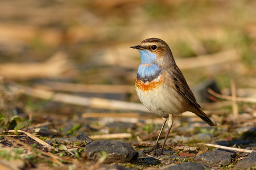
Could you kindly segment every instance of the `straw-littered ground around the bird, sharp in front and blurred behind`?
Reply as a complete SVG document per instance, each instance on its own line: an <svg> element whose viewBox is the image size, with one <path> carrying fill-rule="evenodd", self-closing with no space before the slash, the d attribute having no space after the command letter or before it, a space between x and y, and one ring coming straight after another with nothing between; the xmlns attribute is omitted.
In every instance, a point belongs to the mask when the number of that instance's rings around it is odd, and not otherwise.
<svg viewBox="0 0 256 170"><path fill-rule="evenodd" d="M1 1L0 167L199 166L192 162L246 168L239 162L249 165L253 154L199 143L255 150L255 6L254 1ZM146 151L162 118L135 94L140 58L129 48L149 37L170 45L196 99L218 124L209 127L191 113L175 117L159 157ZM217 94L209 95L209 87ZM86 156L86 136L129 143L138 159L105 165L108 154Z"/></svg>

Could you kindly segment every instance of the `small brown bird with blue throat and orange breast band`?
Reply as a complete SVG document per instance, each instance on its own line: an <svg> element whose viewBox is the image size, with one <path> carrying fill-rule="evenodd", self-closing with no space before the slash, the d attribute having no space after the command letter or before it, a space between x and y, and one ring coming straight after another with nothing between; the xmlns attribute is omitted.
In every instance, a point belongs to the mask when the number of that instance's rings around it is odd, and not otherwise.
<svg viewBox="0 0 256 170"><path fill-rule="evenodd" d="M217 126L216 122L200 109L166 42L151 38L131 48L138 49L141 53L141 64L136 79L138 97L148 110L163 118L162 128L150 151L154 150L156 154L158 140L169 118L167 134L158 155L163 153L164 145L174 124L173 115L181 115L189 111L195 113L208 125Z"/></svg>

